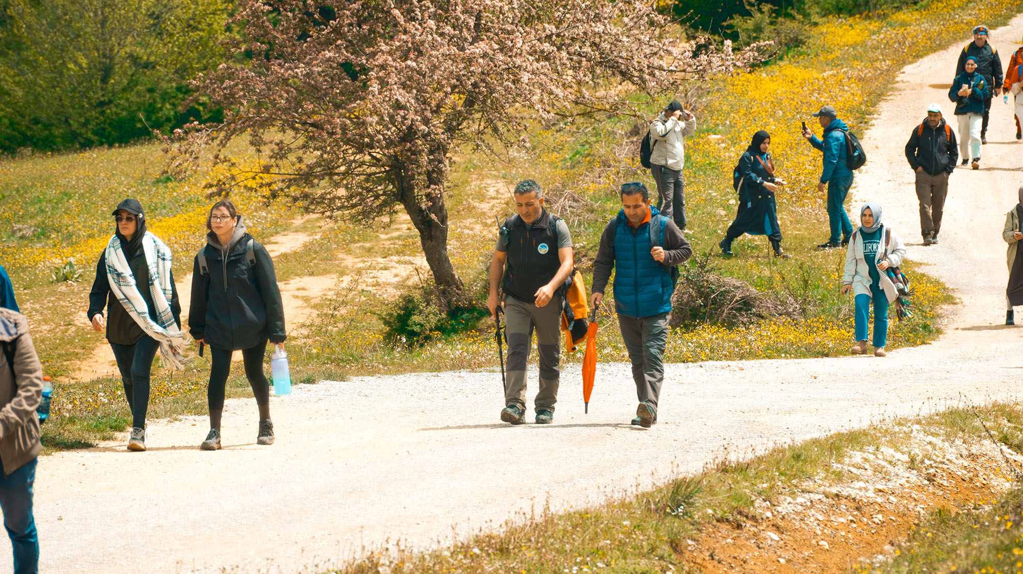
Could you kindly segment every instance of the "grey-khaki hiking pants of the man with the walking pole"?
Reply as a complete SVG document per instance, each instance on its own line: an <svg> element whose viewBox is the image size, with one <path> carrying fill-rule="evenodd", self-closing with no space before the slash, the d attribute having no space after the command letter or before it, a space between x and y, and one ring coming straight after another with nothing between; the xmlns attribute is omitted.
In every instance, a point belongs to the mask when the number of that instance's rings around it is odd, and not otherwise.
<svg viewBox="0 0 1023 574"><path fill-rule="evenodd" d="M562 353L562 298L554 295L550 302L538 307L510 295L504 298L504 333L508 342L508 363L505 376L504 404L526 410L526 366L536 330L536 349L540 354L540 391L533 401L537 411L554 412L559 365Z"/></svg>

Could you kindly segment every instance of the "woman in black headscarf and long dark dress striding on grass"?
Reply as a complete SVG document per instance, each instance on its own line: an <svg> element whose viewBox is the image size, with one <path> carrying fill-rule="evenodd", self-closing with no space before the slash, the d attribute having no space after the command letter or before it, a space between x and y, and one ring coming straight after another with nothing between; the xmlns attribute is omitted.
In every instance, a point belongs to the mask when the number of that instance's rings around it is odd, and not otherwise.
<svg viewBox="0 0 1023 574"><path fill-rule="evenodd" d="M763 130L753 135L753 142L739 158L733 178L739 180L739 211L724 239L718 243L721 252L731 255L731 242L744 233L766 235L775 257L789 258L782 251L782 228L777 225L777 201L774 194L785 181L774 177L771 160L770 134Z"/></svg>

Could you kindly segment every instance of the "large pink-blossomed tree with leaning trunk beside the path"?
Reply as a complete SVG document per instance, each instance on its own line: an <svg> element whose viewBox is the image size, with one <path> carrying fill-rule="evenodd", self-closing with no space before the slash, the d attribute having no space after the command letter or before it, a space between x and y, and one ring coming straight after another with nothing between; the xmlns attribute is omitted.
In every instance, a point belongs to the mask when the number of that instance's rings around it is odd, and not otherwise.
<svg viewBox="0 0 1023 574"><path fill-rule="evenodd" d="M210 142L220 152L244 136L263 162L231 165L221 193L258 187L354 221L401 205L449 301L462 296L447 252L453 151L528 147L559 116L638 115L637 92L663 102L758 57L695 53L642 0L243 0L232 23L229 47L252 60L196 80L224 122L186 130L179 164Z"/></svg>

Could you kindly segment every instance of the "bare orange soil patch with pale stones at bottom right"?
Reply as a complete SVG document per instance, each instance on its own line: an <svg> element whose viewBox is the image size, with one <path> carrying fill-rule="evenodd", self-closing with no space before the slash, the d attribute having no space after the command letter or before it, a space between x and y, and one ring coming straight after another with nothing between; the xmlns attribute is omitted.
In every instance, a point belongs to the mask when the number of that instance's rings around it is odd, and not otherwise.
<svg viewBox="0 0 1023 574"><path fill-rule="evenodd" d="M887 560L928 512L990 500L1009 485L1002 455L990 442L945 441L915 431L909 451L854 452L834 465L846 481L810 480L795 498L757 500L753 516L711 523L675 552L708 574L846 572Z"/></svg>

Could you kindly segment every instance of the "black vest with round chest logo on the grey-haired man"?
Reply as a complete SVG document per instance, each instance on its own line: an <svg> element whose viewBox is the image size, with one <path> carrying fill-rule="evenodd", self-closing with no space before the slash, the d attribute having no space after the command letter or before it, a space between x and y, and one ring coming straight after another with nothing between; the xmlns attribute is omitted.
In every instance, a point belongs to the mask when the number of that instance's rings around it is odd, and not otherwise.
<svg viewBox="0 0 1023 574"><path fill-rule="evenodd" d="M543 209L533 225L518 214L504 222L507 230L507 261L504 266L504 293L532 303L536 291L558 275L558 218Z"/></svg>

